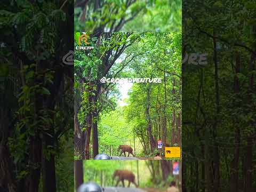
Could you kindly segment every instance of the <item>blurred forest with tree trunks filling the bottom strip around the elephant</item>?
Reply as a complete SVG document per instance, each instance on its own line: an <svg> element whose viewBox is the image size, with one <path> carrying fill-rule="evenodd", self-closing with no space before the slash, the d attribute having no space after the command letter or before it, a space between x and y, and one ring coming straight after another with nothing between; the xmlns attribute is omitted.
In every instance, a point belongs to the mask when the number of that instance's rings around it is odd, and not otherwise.
<svg viewBox="0 0 256 192"><path fill-rule="evenodd" d="M170 185L171 181L177 183L177 187L181 187L181 170L180 175L173 175L172 161L76 161L75 166L75 182L79 186L79 182L93 181L103 188L123 187L122 182L117 184L117 178L113 179L116 170L125 170L134 175L134 183L130 187L136 186L146 191L162 192ZM81 168L82 166L82 168ZM181 168L180 168L181 169ZM83 170L83 172L80 172ZM83 177L83 178L81 178ZM125 187L128 180L124 182Z"/></svg>

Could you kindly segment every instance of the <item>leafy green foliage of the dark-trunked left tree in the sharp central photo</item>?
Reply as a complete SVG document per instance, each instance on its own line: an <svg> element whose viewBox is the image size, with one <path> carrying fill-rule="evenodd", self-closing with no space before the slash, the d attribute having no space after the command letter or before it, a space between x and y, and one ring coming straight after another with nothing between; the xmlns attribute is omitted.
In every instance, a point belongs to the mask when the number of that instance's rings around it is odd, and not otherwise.
<svg viewBox="0 0 256 192"><path fill-rule="evenodd" d="M78 36L79 33L76 33L75 38L77 39ZM94 49L88 52L75 52L75 102L77 106L75 110L77 110L79 130L90 129L86 124L86 117L90 115L91 111L97 114L97 117L93 118L93 123L95 123L99 121L100 113L107 113L115 109L117 87L101 85L99 79L116 73L111 68L106 70L106 66L113 66L118 58L118 51L121 54L125 47L138 41L138 37L139 34L133 33L106 33L101 38L91 35L88 42L90 46L94 46ZM100 45L98 45L99 41ZM77 40L75 45L77 46ZM107 61L108 59L109 61ZM123 63L119 63L118 66L121 65ZM117 143L115 143L115 148L116 146Z"/></svg>

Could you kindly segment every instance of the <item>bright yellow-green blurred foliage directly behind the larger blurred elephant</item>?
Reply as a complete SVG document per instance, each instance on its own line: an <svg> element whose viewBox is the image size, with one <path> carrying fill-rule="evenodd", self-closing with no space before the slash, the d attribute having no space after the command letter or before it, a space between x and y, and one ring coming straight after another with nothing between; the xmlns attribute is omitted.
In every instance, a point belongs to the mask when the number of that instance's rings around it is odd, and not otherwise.
<svg viewBox="0 0 256 192"><path fill-rule="evenodd" d="M140 188L154 187L166 189L169 181L173 180L173 175L170 173L170 177L164 180L161 175L162 170L159 163L159 161L84 161L84 182L93 181L103 187L115 186L117 182L117 178L113 180L115 170L129 170L135 175L136 183L138 183L139 175ZM151 172L152 169L155 171L155 175ZM127 186L126 182L125 185ZM118 186L121 187L122 183L119 182ZM135 186L131 184L131 187Z"/></svg>

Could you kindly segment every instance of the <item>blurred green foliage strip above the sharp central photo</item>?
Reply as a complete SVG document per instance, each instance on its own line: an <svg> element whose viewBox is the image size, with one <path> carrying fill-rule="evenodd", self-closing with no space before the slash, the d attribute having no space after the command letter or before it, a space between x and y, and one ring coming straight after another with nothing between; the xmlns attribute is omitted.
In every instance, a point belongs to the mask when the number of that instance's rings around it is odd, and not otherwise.
<svg viewBox="0 0 256 192"><path fill-rule="evenodd" d="M181 1L75 1L78 31L181 31Z"/></svg>

